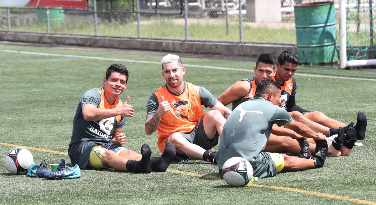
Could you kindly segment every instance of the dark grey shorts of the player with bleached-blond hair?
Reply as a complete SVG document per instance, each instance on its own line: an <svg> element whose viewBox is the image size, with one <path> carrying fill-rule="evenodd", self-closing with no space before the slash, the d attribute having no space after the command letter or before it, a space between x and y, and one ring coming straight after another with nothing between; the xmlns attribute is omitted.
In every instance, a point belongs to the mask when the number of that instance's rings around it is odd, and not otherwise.
<svg viewBox="0 0 376 205"><path fill-rule="evenodd" d="M218 144L218 132L215 133L215 136L213 139L209 139L208 136L206 136L205 130L204 130L204 123L203 119L201 118L200 122L197 124L197 126L192 130L190 133L181 133L183 137L191 142L192 144L199 145L204 150L210 150L212 147L215 147L215 145ZM167 145L166 140L166 145ZM175 156L176 160L180 162L186 162L190 160L191 158L186 156L185 154L179 154L176 153Z"/></svg>

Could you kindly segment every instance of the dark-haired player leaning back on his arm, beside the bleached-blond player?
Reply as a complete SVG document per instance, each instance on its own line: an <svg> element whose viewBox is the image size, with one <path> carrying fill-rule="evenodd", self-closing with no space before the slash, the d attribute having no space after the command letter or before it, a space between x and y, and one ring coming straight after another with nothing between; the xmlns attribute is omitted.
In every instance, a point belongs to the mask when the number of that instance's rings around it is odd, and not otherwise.
<svg viewBox="0 0 376 205"><path fill-rule="evenodd" d="M275 72L275 65L276 59L271 54L261 54L257 61L256 66L254 67L255 76L253 78L246 78L240 81L235 82L229 88L226 89L220 96L218 96L218 101L223 103L223 105L228 105L232 103L232 109L235 109L240 103L246 102L247 100L251 99L255 95L256 85L259 81L265 78L272 79L274 77ZM289 112L291 117L307 125L311 128L314 132L321 132L326 136L329 136L329 127L325 127L321 124L318 124L314 121L309 120L308 118L304 117L304 115L298 111ZM336 133L338 129L334 130ZM332 132L333 133L333 132ZM276 136L278 135L278 136ZM265 147L266 151L270 152L277 152L277 153L292 153L292 154L299 154L300 145L295 140L299 138L297 133L293 132L290 129L284 129L283 127L278 127L276 125L273 126L272 134L268 140L268 143ZM346 139L353 139L352 136L353 132L350 132ZM337 147L329 146L328 156L341 156L341 147L343 141L345 140L345 135L338 136L338 139L335 140L335 143L338 142ZM315 150L315 144L313 140L309 140L311 144L309 147L311 148L311 153ZM346 140L345 140L346 142ZM343 154L349 155L352 146L351 143L345 143L345 148L342 150ZM354 142L355 144L355 142ZM347 148L351 147L351 148ZM339 150L337 150L337 149ZM346 151L344 151L346 150Z"/></svg>

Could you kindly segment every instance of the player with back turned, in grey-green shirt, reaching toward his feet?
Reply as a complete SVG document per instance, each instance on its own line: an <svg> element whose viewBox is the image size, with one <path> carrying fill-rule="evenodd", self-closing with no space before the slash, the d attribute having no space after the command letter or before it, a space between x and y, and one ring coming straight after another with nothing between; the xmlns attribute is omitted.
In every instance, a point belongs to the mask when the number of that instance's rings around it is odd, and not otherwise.
<svg viewBox="0 0 376 205"><path fill-rule="evenodd" d="M278 172L302 171L324 166L328 145L322 133L315 133L303 123L294 121L288 112L279 108L280 86L272 79L260 81L253 99L241 103L227 118L223 126L217 159L219 173L231 157L247 159L253 168L253 176L273 177ZM311 156L309 148L302 146L299 157L264 152L272 124L285 126L316 140L316 150ZM305 139L305 138L302 138Z"/></svg>

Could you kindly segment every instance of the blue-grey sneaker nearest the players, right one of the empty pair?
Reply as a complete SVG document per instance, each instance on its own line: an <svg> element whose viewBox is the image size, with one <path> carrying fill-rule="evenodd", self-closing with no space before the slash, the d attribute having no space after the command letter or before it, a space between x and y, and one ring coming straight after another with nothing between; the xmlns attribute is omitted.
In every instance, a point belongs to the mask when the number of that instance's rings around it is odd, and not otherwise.
<svg viewBox="0 0 376 205"><path fill-rule="evenodd" d="M55 172L51 172L44 175L44 178L49 180L64 180L79 177L81 177L81 170L79 166L74 165L74 167L72 168L65 166L64 159L60 160L59 167L56 169Z"/></svg>

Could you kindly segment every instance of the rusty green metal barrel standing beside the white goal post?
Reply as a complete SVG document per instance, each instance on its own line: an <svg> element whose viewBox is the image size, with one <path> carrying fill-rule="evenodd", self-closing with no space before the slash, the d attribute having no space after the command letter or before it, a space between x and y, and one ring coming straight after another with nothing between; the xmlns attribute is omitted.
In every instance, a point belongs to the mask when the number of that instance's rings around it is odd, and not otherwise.
<svg viewBox="0 0 376 205"><path fill-rule="evenodd" d="M334 63L338 60L337 28L331 1L296 4L296 42L300 63Z"/></svg>

